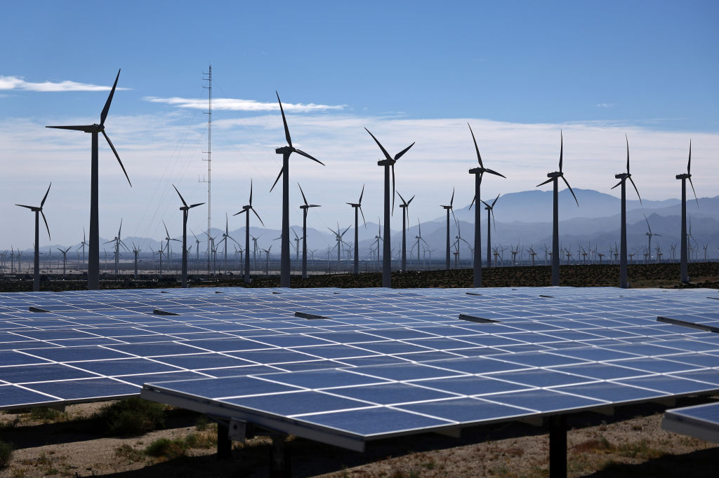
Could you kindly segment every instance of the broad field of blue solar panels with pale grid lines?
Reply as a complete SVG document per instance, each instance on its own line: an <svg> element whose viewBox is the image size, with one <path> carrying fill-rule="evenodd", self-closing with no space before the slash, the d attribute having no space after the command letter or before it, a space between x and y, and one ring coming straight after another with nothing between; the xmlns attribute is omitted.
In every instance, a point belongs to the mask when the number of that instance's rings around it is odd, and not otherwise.
<svg viewBox="0 0 719 478"><path fill-rule="evenodd" d="M719 389L719 336L657 317L710 319L716 297L613 288L0 294L0 408L136 395L155 383L148 389L163 399L367 438L708 393Z"/></svg>

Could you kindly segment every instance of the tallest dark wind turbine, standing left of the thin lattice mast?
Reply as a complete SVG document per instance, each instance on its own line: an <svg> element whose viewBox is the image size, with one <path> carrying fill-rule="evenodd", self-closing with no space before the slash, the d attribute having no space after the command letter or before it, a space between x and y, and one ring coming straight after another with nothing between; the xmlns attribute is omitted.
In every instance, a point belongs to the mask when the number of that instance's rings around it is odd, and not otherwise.
<svg viewBox="0 0 719 478"><path fill-rule="evenodd" d="M132 187L127 171L120 161L120 156L117 154L115 146L110 141L109 136L105 133L105 120L107 113L110 111L110 103L112 103L112 97L115 94L115 88L117 86L117 80L120 78L120 70L117 70L117 76L115 77L115 83L112 85L110 95L107 97L104 108L100 113L100 124L91 124L85 126L45 126L46 128L58 128L58 129L71 129L74 131L84 131L85 133L91 133L92 135L92 152L91 152L91 166L90 166L90 243L88 248L88 290L100 289L100 229L99 229L99 186L98 186L98 158L99 158L99 146L98 146L98 135L102 133L105 136L107 144L115 154L117 162L119 162L122 172L124 172L127 182Z"/></svg>

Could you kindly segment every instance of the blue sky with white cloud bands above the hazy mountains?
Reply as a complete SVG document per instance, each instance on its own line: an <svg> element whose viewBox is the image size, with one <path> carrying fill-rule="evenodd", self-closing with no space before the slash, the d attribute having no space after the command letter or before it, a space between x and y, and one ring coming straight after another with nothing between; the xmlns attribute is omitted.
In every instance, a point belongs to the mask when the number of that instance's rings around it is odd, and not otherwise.
<svg viewBox="0 0 719 478"><path fill-rule="evenodd" d="M293 158L290 167L323 205L310 217L319 228L349 220L342 204L362 182L366 215L380 212L380 156L363 126L390 151L417 141L398 163L397 187L417 195L426 219L439 216L452 187L460 205L472 200L467 121L487 167L508 177L485 182L487 196L533 189L556 169L560 128L573 187L608 192L626 132L643 197L678 196L673 175L690 138L697 194L715 196L717 24L713 1L9 4L0 18L0 209L22 226L0 248L32 243L32 217L13 204L39 202L50 181L52 243L80 239L89 136L42 126L98 121L107 92L96 87L111 85L119 67L127 89L106 126L134 188L101 146L109 238L120 217L125 235L159 237L160 220L179 222L170 184L192 202L206 199L198 176L209 62L214 225L246 203L250 177L263 219L280 224L280 196L268 192L280 166L273 149L284 144L275 90L297 146L327 164ZM193 228L203 216L191 216Z"/></svg>

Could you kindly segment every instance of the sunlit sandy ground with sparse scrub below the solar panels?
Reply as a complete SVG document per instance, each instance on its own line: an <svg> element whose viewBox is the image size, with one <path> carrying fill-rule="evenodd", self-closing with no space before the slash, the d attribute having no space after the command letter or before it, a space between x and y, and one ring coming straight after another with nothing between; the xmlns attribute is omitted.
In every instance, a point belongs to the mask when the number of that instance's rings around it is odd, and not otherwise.
<svg viewBox="0 0 719 478"><path fill-rule="evenodd" d="M703 400L684 399L677 406ZM270 441L234 443L231 460L216 459L214 445L172 456L142 453L160 438L189 434L214 439L213 426L198 431L198 416L175 411L160 431L137 437L104 437L83 418L101 404L69 406L57 423L32 421L29 414L1 413L0 436L15 444L5 477L267 477ZM580 414L569 418L568 469L571 477L719 476L719 446L661 430L664 406L621 408L614 416ZM296 477L546 477L546 428L521 423L477 427L454 439L423 434L370 442L365 453L289 437Z"/></svg>

